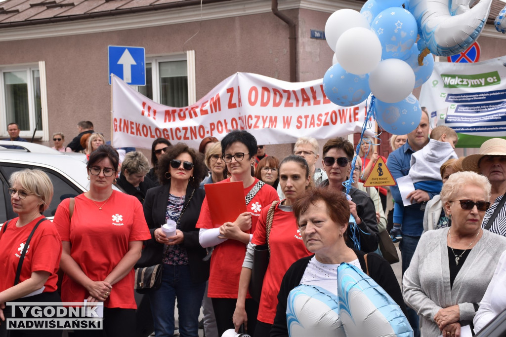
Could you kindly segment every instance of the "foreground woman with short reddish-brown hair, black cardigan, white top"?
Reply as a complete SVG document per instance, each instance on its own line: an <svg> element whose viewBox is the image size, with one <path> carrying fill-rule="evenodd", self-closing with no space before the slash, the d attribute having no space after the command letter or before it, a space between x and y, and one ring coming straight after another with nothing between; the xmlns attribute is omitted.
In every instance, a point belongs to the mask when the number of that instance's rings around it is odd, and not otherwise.
<svg viewBox="0 0 506 337"><path fill-rule="evenodd" d="M297 218L306 248L315 254L298 260L286 271L278 294L271 337L288 336L287 302L297 292L292 291L299 285L313 286L330 296L336 303L339 302L337 269L343 262L354 265L364 272L368 271L369 276L383 287L401 308L405 308L399 283L390 264L375 253L368 253L366 262L365 253L346 246L350 207L341 192L322 187L309 189L294 203L293 213ZM318 318L316 315L315 319ZM305 328L307 335L319 335L325 331L336 336L344 336L340 319L329 322L328 325L323 321L315 321L313 326L308 319L306 318L306 325L302 327ZM328 333L323 334L329 335Z"/></svg>

